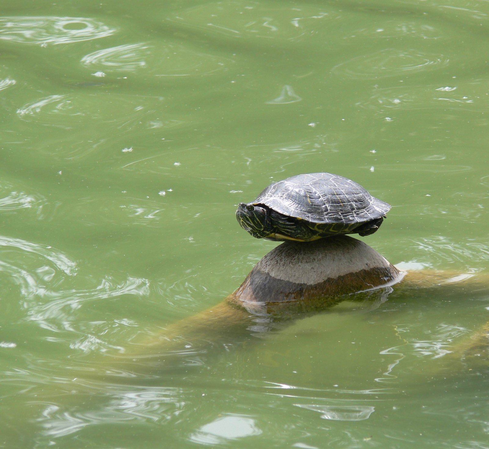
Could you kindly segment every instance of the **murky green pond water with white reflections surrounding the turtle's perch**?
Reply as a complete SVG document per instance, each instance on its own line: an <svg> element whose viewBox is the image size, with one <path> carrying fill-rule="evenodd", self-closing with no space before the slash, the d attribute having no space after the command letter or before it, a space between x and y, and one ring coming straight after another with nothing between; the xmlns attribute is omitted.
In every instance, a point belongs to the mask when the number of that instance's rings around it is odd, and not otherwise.
<svg viewBox="0 0 489 449"><path fill-rule="evenodd" d="M119 360L240 285L276 244L237 203L299 173L393 204L362 238L392 263L484 272L487 2L1 14L0 448L489 448L488 372L447 361L487 290Z"/></svg>

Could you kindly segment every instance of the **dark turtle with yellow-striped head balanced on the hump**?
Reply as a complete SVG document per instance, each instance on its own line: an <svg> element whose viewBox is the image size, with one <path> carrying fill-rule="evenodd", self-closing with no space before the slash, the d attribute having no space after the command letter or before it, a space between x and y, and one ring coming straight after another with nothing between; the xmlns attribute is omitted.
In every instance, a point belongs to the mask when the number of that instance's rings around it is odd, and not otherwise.
<svg viewBox="0 0 489 449"><path fill-rule="evenodd" d="M257 239L310 242L338 234L377 231L391 205L361 185L332 173L308 173L273 182L236 218Z"/></svg>

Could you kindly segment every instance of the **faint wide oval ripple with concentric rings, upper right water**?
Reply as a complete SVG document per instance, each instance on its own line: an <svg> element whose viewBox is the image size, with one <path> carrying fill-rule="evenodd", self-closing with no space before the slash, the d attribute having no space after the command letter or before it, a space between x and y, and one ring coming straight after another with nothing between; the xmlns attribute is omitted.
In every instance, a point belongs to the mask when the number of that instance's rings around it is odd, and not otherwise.
<svg viewBox="0 0 489 449"><path fill-rule="evenodd" d="M389 48L362 55L333 67L333 72L353 79L378 79L430 70L448 64L443 55L428 55Z"/></svg>

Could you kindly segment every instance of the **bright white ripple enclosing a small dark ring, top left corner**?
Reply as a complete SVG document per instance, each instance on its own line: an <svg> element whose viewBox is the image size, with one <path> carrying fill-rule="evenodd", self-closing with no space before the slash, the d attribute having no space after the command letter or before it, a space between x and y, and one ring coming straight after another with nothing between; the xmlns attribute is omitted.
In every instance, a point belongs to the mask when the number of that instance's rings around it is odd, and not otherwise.
<svg viewBox="0 0 489 449"><path fill-rule="evenodd" d="M0 39L19 44L69 44L115 32L102 22L83 17L2 17Z"/></svg>

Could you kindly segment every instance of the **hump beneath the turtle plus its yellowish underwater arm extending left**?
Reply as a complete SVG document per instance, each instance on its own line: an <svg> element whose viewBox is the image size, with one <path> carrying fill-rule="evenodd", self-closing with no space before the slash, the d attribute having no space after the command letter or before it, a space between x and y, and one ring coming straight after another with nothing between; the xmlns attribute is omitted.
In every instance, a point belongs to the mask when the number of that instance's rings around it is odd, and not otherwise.
<svg viewBox="0 0 489 449"><path fill-rule="evenodd" d="M174 351L185 343L195 350L199 342L229 345L249 337L249 329L267 332L277 321L326 310L345 299L378 305L404 274L372 247L346 235L284 242L220 304L165 326L139 343L139 349Z"/></svg>

